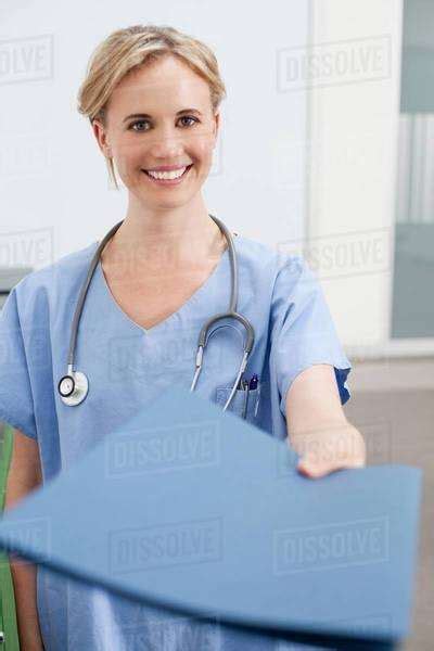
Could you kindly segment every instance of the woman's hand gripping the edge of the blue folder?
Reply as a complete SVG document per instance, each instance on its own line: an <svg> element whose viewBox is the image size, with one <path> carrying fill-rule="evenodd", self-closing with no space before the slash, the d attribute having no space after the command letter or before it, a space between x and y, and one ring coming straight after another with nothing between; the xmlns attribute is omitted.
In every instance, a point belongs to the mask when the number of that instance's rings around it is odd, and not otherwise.
<svg viewBox="0 0 434 651"><path fill-rule="evenodd" d="M301 455L297 470L311 478L343 468L366 464L366 444L360 432L347 421L291 436L292 447Z"/></svg>

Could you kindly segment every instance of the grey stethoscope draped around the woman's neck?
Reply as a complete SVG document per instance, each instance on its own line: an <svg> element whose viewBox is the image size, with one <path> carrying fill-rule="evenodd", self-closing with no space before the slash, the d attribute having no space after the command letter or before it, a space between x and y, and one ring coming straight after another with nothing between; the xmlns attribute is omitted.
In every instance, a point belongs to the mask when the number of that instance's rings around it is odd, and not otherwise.
<svg viewBox="0 0 434 651"><path fill-rule="evenodd" d="M199 341L197 341L195 372L194 372L194 378L193 378L193 382L191 384L190 391L191 392L194 391L196 383L197 383L199 375L202 370L203 355L204 355L204 349L206 348L206 344L208 342L207 335L208 335L209 328L217 321L220 321L221 319L235 319L237 321L240 321L240 323L244 327L244 330L246 332L245 342L244 342L244 346L243 346L243 357L242 357L241 365L240 365L240 368L238 371L237 380L232 386L231 393L229 394L229 398L227 399L226 405L224 407L224 411L225 411L231 404L233 396L235 395L239 382L241 380L241 375L244 373L245 368L247 366L248 355L251 354L251 350L253 348L253 344L255 341L255 331L253 329L252 323L245 317L243 317L242 315L237 312L238 264L237 264L237 254L235 254L235 247L233 244L233 238L232 238L231 233L229 232L229 230L226 228L225 224L222 224L222 221L220 221L220 219L217 219L217 217L215 217L214 215L210 215L210 214L209 214L209 217L212 219L214 219L214 221L217 224L217 226L219 227L220 231L225 235L226 241L228 243L230 266L231 266L231 296L230 296L228 311L218 314L218 315L212 317L210 319L208 319L208 321L206 321L206 323L203 326L203 328L200 332ZM108 242L108 240L111 238L113 238L113 235L115 234L115 232L122 226L123 222L124 222L124 220L116 224L107 232L105 238L101 241L100 245L98 246L98 248L92 257L92 260L89 266L88 275L86 277L86 280L81 286L81 290L80 290L80 293L78 296L77 306L75 308L74 318L73 318L72 331L71 331L71 341L69 341L69 349L68 349L68 357L67 357L67 373L66 373L66 375L63 375L63 378L61 378L61 380L59 381L59 385L58 385L58 391L59 391L62 401L65 405L68 405L69 407L76 407L77 405L80 405L89 393L89 381L88 381L86 374L82 373L81 371L76 371L74 368L74 366L75 366L74 357L75 357L75 348L76 348L76 343L77 343L78 324L80 321L80 317L81 317L81 312L82 312L82 308L84 308L84 304L85 304L85 299L86 299L86 294L88 292L90 281L92 280L93 272L100 260L101 252L103 251L103 248L106 245L106 243Z"/></svg>

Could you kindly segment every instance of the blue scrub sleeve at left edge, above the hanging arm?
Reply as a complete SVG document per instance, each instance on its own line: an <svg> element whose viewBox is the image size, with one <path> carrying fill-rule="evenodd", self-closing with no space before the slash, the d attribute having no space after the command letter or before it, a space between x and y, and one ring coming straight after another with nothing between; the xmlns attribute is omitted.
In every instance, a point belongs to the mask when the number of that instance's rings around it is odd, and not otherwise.
<svg viewBox="0 0 434 651"><path fill-rule="evenodd" d="M0 421L37 438L34 399L15 288L0 310Z"/></svg>

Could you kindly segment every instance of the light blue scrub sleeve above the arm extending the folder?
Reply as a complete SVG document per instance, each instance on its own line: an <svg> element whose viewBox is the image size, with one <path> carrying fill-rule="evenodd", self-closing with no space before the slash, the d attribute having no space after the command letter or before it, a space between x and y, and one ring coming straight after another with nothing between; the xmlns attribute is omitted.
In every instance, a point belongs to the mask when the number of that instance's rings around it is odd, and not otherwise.
<svg viewBox="0 0 434 651"><path fill-rule="evenodd" d="M350 393L346 357L316 275L303 256L293 256L279 270L271 306L270 361L275 366L280 410L286 418L286 394L294 379L316 363L334 367L341 404Z"/></svg>

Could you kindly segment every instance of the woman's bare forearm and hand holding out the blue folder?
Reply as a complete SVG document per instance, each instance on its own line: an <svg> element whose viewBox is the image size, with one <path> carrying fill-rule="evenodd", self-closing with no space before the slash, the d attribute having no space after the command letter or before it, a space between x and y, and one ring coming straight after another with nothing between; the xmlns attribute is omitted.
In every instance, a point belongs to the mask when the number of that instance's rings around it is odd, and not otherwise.
<svg viewBox="0 0 434 651"><path fill-rule="evenodd" d="M289 443L302 456L298 470L307 476L366 464L363 437L346 420L331 365L314 365L295 378L286 395L286 425Z"/></svg>

